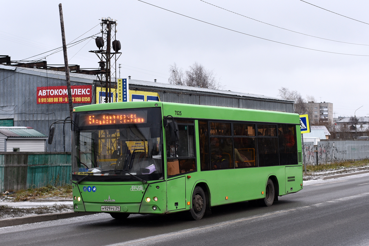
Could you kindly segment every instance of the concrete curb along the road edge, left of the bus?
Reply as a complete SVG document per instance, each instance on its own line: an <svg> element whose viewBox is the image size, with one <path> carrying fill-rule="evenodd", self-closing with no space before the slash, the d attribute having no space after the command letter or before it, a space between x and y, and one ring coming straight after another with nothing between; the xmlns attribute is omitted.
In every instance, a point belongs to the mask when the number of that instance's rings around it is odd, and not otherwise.
<svg viewBox="0 0 369 246"><path fill-rule="evenodd" d="M55 214L41 214L41 215L24 216L20 218L0 219L0 227L23 225L23 224L30 224L30 223L43 222L43 221L54 221L56 219L67 219L67 218L90 215L90 214L97 214L97 213L95 212L61 212L61 213L55 213Z"/></svg>

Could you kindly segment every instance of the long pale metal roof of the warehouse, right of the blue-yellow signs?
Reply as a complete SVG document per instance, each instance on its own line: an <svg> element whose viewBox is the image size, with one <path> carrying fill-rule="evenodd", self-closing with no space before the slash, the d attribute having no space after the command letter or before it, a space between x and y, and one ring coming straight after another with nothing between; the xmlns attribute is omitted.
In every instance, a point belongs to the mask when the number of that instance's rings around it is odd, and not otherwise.
<svg viewBox="0 0 369 246"><path fill-rule="evenodd" d="M150 81L143 81L143 80L128 80L130 90L132 90L132 85L138 86L151 86L151 87L158 87L162 89L173 90L173 91L187 91L188 93L192 94L223 94L229 96L239 96L239 97L252 97L252 98L261 98L261 99L269 99L269 100L277 100L277 101L284 101L286 103L293 103L291 100L284 100L281 98L276 97L269 97L264 95L257 95L257 94L250 94L250 93L242 93L236 91L229 91L229 90L214 90L214 89L207 89L201 87L193 87L193 86L181 86L177 84L167 84L167 83L158 83L158 82L150 82Z"/></svg>

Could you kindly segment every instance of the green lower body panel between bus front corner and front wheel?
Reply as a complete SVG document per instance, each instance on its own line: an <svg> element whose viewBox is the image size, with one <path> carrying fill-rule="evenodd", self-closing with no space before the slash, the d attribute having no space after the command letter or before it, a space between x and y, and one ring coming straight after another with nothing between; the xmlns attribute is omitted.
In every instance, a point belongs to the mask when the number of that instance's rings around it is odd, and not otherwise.
<svg viewBox="0 0 369 246"><path fill-rule="evenodd" d="M167 181L167 211L186 208L186 179L176 177Z"/></svg>

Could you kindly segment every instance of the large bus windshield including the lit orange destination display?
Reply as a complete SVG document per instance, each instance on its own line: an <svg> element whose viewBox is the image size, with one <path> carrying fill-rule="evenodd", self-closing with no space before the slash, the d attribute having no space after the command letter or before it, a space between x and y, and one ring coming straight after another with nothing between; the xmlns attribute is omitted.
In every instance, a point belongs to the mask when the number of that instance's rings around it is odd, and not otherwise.
<svg viewBox="0 0 369 246"><path fill-rule="evenodd" d="M77 112L74 123L73 180L163 179L160 108Z"/></svg>

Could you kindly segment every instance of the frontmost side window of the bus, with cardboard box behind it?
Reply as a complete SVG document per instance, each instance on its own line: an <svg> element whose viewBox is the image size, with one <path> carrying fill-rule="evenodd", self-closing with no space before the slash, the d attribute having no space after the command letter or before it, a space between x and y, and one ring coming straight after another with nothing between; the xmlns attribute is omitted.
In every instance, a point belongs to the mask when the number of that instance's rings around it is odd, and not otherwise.
<svg viewBox="0 0 369 246"><path fill-rule="evenodd" d="M194 125L178 122L179 141L170 141L169 131L166 134L166 153L168 176L196 170Z"/></svg>

